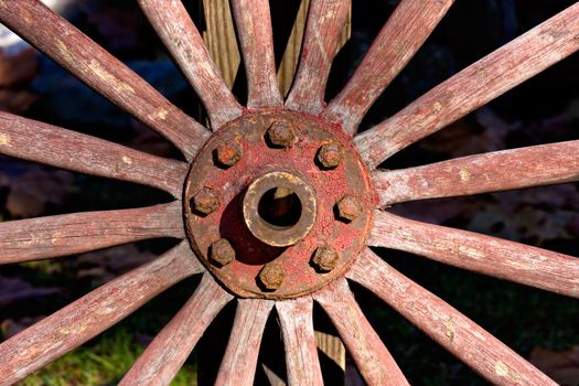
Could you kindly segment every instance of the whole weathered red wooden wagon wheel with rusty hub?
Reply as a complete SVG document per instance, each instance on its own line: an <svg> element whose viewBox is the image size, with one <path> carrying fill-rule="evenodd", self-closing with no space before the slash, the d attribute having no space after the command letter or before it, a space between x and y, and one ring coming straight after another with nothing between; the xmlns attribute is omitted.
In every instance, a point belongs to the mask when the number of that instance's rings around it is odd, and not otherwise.
<svg viewBox="0 0 579 386"><path fill-rule="evenodd" d="M9 385L83 344L185 277L203 278L121 384L168 384L219 310L237 311L218 384L251 384L276 308L288 380L321 384L312 305L330 315L364 379L407 384L349 289L373 291L483 377L553 384L515 352L367 246L579 297L579 259L398 217L400 202L579 180L579 141L459 158L406 170L377 165L579 50L579 3L489 54L398 114L354 136L371 105L451 7L403 0L342 92L323 100L349 1L312 0L287 100L276 83L267 0L232 0L247 68L248 103L229 93L179 0L139 0L202 98L213 133L36 0L0 0L0 21L87 85L156 129L187 162L0 114L0 152L137 182L171 193L151 207L0 224L2 264L156 237L183 239L0 345ZM508 168L501 168L508 164Z"/></svg>

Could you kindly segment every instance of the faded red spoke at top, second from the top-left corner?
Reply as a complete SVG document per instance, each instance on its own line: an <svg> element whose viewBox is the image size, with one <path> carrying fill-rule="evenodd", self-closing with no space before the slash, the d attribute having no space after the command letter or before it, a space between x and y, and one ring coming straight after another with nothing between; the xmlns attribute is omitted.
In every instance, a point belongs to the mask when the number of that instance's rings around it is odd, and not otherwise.
<svg viewBox="0 0 579 386"><path fill-rule="evenodd" d="M242 115L181 0L138 0L179 67L203 100L214 130Z"/></svg>

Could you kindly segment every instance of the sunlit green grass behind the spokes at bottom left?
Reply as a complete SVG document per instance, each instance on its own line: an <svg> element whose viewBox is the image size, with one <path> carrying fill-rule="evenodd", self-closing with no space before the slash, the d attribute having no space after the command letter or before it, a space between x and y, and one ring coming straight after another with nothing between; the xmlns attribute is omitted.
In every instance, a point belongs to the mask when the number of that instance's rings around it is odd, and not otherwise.
<svg viewBox="0 0 579 386"><path fill-rule="evenodd" d="M142 351L142 346L126 329L112 329L103 334L94 345L71 352L18 385L116 385ZM185 364L172 385L196 385L196 379L195 366Z"/></svg>

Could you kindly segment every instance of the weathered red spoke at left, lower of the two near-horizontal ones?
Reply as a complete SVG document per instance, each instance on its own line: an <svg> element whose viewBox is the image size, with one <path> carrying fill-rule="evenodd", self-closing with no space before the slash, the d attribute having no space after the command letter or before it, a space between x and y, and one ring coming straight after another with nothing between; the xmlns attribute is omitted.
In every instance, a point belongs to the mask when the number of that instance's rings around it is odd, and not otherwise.
<svg viewBox="0 0 579 386"><path fill-rule="evenodd" d="M184 238L182 204L0 223L0 265L82 254L148 238Z"/></svg>

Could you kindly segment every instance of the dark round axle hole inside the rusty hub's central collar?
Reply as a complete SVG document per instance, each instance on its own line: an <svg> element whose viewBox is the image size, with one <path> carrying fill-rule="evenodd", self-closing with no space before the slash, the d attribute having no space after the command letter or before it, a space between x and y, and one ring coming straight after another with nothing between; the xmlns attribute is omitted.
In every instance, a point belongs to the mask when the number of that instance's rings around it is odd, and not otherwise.
<svg viewBox="0 0 579 386"><path fill-rule="evenodd" d="M279 186L267 191L257 206L257 213L276 228L290 228L301 217L301 202L290 189Z"/></svg>

